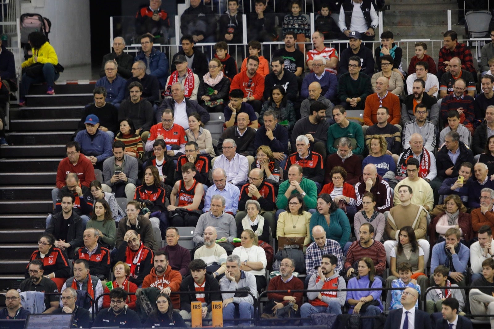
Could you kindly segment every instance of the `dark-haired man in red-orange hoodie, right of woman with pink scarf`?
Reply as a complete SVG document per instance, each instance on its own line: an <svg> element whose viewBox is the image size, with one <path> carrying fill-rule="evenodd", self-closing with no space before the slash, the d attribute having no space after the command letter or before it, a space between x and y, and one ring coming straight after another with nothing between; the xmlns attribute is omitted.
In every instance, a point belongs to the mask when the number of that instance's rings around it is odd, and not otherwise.
<svg viewBox="0 0 494 329"><path fill-rule="evenodd" d="M247 57L247 71L240 72L233 77L230 85L230 92L233 89L241 89L244 92L242 102L249 103L254 111L261 112L262 93L264 92L264 78L257 73L259 58L257 56Z"/></svg>

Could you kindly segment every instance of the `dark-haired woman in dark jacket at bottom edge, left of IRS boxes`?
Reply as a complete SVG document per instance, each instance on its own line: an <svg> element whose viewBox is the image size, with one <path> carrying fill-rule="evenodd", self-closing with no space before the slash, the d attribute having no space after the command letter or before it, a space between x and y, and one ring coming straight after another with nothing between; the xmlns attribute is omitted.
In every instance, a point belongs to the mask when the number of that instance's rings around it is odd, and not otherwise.
<svg viewBox="0 0 494 329"><path fill-rule="evenodd" d="M173 310L170 296L162 292L156 298L156 308L149 315L144 327L187 328L187 325L178 311Z"/></svg>

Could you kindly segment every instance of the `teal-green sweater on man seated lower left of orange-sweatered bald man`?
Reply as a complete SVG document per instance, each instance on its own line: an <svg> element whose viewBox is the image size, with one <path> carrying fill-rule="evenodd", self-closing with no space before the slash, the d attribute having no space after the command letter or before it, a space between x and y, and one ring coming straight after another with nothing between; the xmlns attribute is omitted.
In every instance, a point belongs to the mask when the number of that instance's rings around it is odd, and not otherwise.
<svg viewBox="0 0 494 329"><path fill-rule="evenodd" d="M362 126L353 121L349 121L349 125L346 128L340 127L339 124L331 124L328 128L328 153L334 154L338 149L339 139L341 137L347 137L352 141L352 153L362 154L364 152L364 132Z"/></svg>

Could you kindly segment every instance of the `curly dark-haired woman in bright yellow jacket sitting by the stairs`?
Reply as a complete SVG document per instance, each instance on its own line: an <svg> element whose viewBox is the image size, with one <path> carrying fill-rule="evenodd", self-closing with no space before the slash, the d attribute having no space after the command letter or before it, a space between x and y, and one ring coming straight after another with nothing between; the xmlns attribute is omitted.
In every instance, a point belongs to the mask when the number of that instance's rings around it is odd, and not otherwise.
<svg viewBox="0 0 494 329"><path fill-rule="evenodd" d="M29 91L29 87L32 83L46 82L47 95L55 94L53 85L55 81L60 77L58 72L55 72L55 66L58 64L58 57L55 53L55 49L51 44L46 41L46 37L41 32L33 32L28 36L28 41L33 48L33 56L27 61L22 63L22 82L20 85L20 99L19 106L26 105L26 98ZM41 63L43 64L40 69L29 69L30 66ZM31 72L27 72L31 71Z"/></svg>

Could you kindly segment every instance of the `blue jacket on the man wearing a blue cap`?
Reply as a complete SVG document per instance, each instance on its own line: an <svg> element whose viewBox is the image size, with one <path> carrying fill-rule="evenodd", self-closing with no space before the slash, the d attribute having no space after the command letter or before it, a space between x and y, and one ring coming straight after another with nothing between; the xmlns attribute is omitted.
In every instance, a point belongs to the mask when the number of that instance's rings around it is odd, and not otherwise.
<svg viewBox="0 0 494 329"><path fill-rule="evenodd" d="M112 139L101 130L97 130L93 138L89 136L87 130L81 130L76 135L76 142L81 145L81 153L86 157L96 157L97 162L104 161L113 156Z"/></svg>

